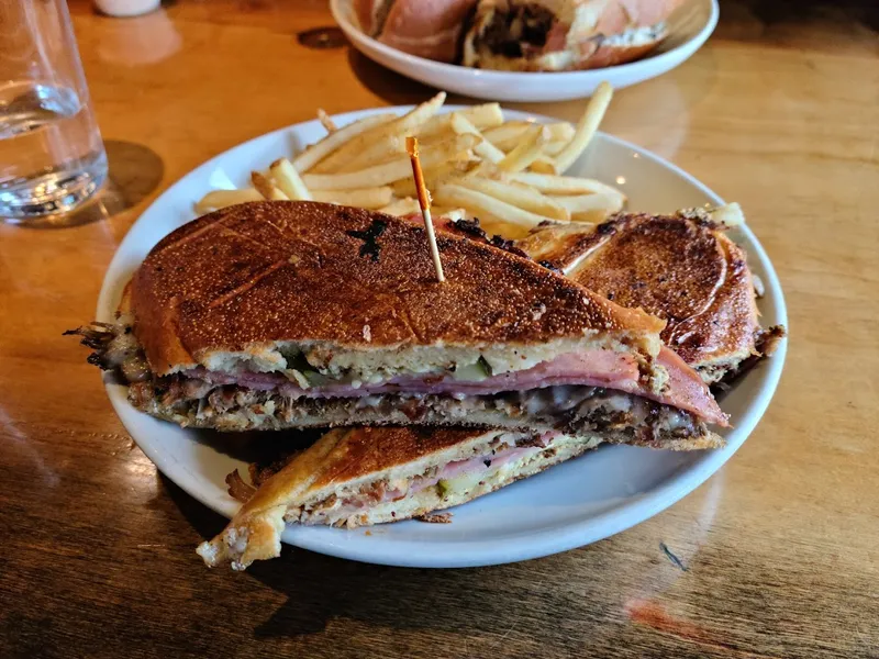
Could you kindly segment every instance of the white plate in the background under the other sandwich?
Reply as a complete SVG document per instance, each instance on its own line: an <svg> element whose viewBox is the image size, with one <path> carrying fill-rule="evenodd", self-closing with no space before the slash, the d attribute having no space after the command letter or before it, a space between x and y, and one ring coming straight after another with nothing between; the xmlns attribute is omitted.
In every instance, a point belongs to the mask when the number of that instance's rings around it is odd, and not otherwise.
<svg viewBox="0 0 879 659"><path fill-rule="evenodd" d="M717 0L688 0L669 19L668 38L643 59L586 71L536 74L474 69L415 57L364 34L354 16L352 0L330 0L330 10L355 48L398 74L446 91L522 103L585 98L602 80L622 89L661 76L705 43L720 15Z"/></svg>

